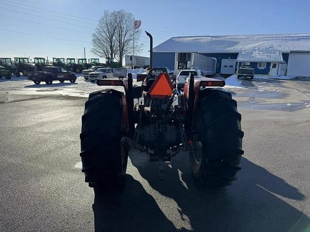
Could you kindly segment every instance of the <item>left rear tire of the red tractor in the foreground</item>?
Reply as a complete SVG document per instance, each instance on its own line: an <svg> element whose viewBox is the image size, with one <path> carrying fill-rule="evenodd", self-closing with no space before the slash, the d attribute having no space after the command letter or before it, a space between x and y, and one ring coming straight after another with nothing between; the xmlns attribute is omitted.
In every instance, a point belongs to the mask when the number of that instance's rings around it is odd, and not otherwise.
<svg viewBox="0 0 310 232"><path fill-rule="evenodd" d="M93 188L124 186L128 150L121 145L123 109L109 92L94 92L82 116L81 159L85 182Z"/></svg>

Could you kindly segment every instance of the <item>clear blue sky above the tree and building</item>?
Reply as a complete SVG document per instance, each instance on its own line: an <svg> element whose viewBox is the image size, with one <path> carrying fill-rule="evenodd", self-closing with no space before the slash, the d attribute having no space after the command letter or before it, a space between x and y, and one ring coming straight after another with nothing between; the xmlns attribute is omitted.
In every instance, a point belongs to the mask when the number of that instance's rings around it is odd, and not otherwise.
<svg viewBox="0 0 310 232"><path fill-rule="evenodd" d="M310 32L309 0L0 0L0 29L28 33L0 30L0 56L80 58L85 46L86 57L94 57L98 19L120 9L142 21L154 46L173 36ZM144 33L141 42L148 56Z"/></svg>

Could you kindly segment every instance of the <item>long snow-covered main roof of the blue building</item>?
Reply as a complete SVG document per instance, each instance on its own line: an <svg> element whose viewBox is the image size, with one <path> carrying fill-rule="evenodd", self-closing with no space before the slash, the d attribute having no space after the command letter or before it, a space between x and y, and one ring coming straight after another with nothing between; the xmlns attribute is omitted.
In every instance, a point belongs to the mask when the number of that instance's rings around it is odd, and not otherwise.
<svg viewBox="0 0 310 232"><path fill-rule="evenodd" d="M172 37L154 52L238 53L242 50L310 51L309 34L221 35Z"/></svg>

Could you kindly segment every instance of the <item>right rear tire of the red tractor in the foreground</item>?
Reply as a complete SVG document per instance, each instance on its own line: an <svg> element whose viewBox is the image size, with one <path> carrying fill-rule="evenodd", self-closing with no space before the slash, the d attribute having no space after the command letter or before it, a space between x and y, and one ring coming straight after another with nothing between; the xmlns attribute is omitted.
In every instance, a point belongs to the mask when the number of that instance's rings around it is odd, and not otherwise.
<svg viewBox="0 0 310 232"><path fill-rule="evenodd" d="M190 166L198 185L229 186L241 169L241 115L229 92L204 89L199 93L194 130L199 131L190 152Z"/></svg>

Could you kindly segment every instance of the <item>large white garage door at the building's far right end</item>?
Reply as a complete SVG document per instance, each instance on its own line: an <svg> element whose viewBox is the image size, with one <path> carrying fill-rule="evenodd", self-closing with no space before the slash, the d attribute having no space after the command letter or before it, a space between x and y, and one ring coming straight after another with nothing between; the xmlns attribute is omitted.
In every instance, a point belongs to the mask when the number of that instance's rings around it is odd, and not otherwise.
<svg viewBox="0 0 310 232"><path fill-rule="evenodd" d="M310 77L310 53L290 53L287 75Z"/></svg>

